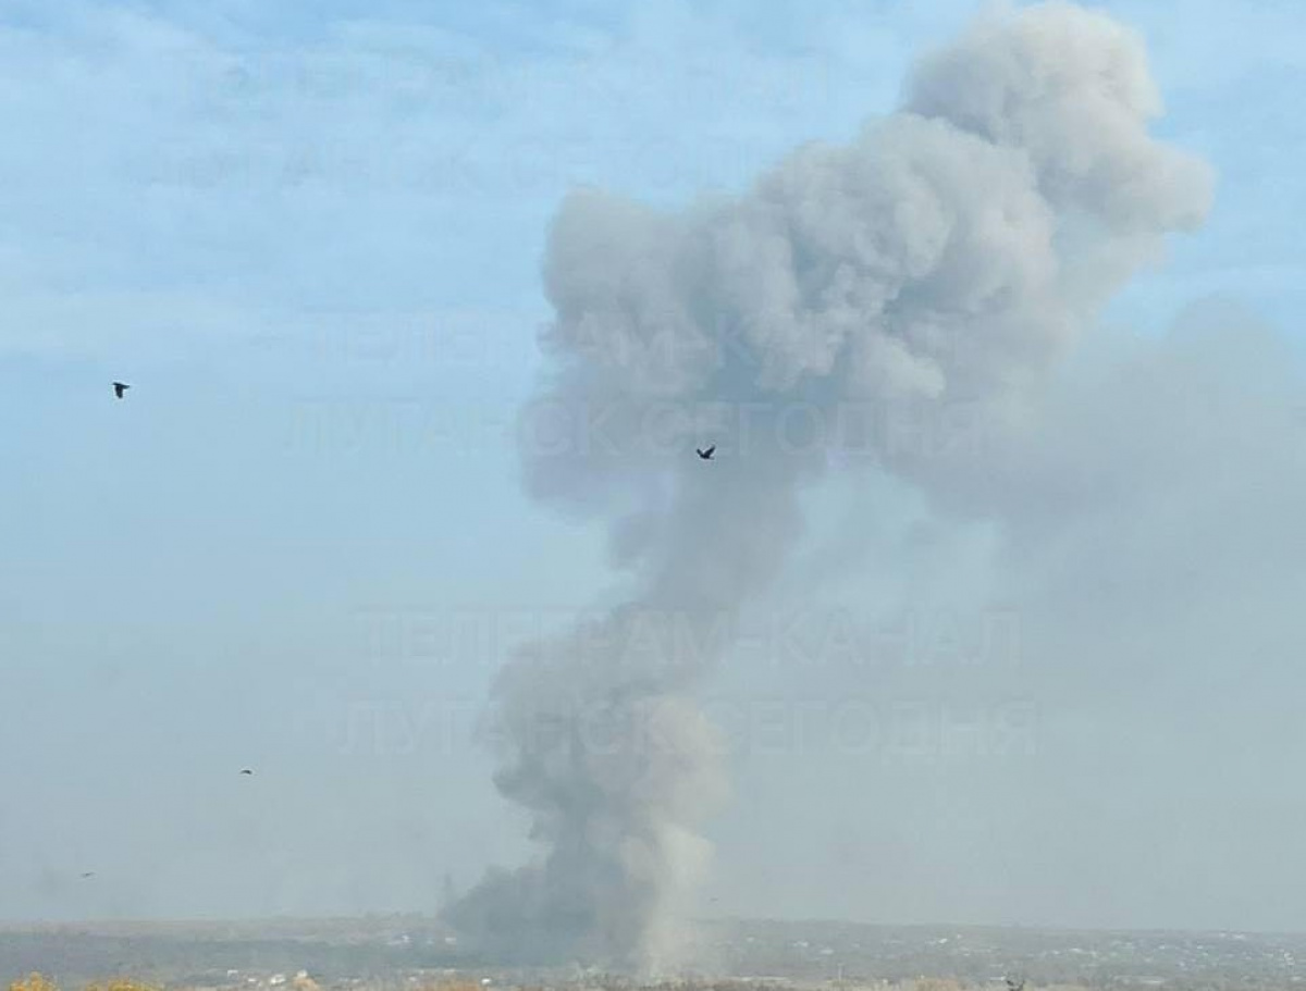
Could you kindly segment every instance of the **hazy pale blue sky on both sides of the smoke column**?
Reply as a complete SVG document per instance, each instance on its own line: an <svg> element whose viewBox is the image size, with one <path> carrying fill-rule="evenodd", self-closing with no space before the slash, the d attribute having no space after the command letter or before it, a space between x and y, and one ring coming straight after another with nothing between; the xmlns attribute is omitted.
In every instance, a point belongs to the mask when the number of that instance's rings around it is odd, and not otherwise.
<svg viewBox="0 0 1306 991"><path fill-rule="evenodd" d="M712 687L704 909L1306 927L1306 17L1105 7L1213 212L1117 298L996 522L812 494ZM473 721L504 646L610 581L507 433L559 198L739 191L976 10L7 4L0 917L431 910L520 862ZM841 607L862 663L794 646Z"/></svg>

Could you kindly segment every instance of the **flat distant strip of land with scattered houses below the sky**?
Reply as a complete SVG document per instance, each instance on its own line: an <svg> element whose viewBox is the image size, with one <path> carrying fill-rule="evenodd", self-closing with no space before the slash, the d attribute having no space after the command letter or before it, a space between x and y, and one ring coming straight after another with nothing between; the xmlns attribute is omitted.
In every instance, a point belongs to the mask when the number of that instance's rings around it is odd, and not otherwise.
<svg viewBox="0 0 1306 991"><path fill-rule="evenodd" d="M921 978L1000 987L1306 988L1306 935L1070 932L704 922L687 977L844 984ZM0 982L42 971L68 990L127 975L170 987L264 991L307 974L321 988L413 987L452 978L496 986L596 984L579 967L525 970L466 953L422 917L213 923L0 924ZM927 982L929 983L929 982ZM882 984L883 986L883 984ZM910 986L910 984L909 984ZM923 987L923 984L922 984Z"/></svg>

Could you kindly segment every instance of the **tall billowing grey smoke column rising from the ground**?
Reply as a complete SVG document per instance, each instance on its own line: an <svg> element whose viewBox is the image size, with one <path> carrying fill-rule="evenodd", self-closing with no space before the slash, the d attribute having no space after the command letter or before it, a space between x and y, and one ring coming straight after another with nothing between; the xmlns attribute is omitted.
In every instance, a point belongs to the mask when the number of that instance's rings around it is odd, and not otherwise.
<svg viewBox="0 0 1306 991"><path fill-rule="evenodd" d="M799 538L802 487L845 443L934 484L884 418L1010 423L1037 400L1096 307L1208 209L1207 167L1148 136L1158 111L1132 34L1045 4L978 22L887 121L739 198L563 204L526 484L607 522L626 605L503 671L496 783L541 858L491 873L456 924L505 957L665 960L725 794L695 685Z"/></svg>

